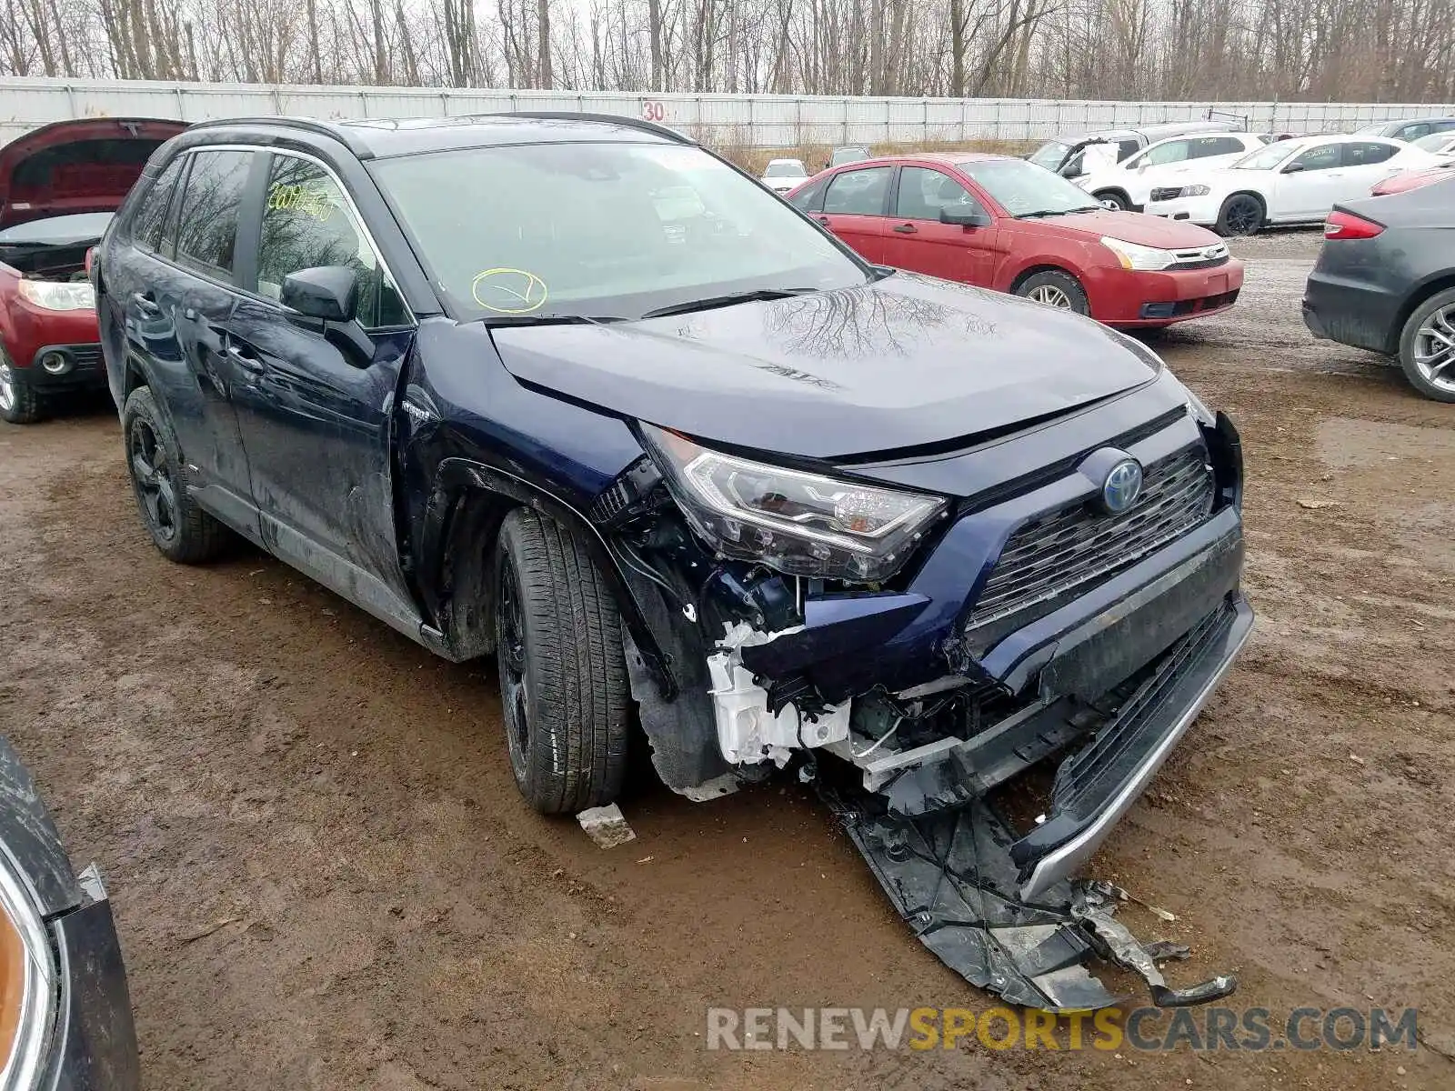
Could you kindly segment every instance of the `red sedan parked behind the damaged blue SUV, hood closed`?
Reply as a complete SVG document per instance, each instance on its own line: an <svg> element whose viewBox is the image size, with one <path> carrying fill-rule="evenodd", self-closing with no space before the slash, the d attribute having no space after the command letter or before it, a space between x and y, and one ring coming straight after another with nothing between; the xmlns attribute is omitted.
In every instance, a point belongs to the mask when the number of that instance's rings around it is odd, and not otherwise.
<svg viewBox="0 0 1455 1091"><path fill-rule="evenodd" d="M1064 307L1109 326L1227 310L1243 262L1212 231L1112 212L1008 156L893 156L826 170L789 195L876 265Z"/></svg>

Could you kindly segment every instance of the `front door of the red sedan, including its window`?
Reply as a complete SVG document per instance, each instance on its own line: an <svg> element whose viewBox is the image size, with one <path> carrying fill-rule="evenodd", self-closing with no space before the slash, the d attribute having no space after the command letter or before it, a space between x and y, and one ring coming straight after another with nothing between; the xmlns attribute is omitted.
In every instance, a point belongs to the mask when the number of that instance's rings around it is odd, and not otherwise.
<svg viewBox="0 0 1455 1091"><path fill-rule="evenodd" d="M988 288L997 228L940 223L940 209L979 211L985 205L954 177L933 167L899 169L893 215L883 236L883 263Z"/></svg>

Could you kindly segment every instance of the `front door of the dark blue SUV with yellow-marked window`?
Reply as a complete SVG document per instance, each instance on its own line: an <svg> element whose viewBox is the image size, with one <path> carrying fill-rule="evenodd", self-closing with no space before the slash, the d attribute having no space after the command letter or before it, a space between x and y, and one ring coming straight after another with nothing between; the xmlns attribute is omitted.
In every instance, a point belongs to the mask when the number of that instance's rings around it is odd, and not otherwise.
<svg viewBox="0 0 1455 1091"><path fill-rule="evenodd" d="M416 610L399 566L391 441L413 316L327 167L274 151L268 172L256 273L227 327L263 541L409 631L400 618ZM352 342L276 301L285 276L317 266L358 276L362 336Z"/></svg>

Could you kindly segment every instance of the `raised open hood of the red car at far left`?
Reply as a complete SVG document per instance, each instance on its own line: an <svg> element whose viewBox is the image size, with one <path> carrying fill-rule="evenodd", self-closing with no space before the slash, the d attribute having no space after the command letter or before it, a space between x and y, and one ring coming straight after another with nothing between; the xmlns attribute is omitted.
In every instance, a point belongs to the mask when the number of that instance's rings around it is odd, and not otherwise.
<svg viewBox="0 0 1455 1091"><path fill-rule="evenodd" d="M0 148L0 228L116 211L151 153L185 128L156 118L86 118L10 141Z"/></svg>

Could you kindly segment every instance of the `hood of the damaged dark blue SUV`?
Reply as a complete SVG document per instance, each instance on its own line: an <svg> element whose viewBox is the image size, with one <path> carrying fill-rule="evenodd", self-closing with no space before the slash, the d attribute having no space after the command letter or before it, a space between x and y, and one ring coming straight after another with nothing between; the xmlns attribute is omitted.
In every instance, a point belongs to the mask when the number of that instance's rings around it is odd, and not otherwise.
<svg viewBox="0 0 1455 1091"><path fill-rule="evenodd" d="M997 432L1154 378L1104 326L909 273L643 321L492 330L524 383L810 458Z"/></svg>

